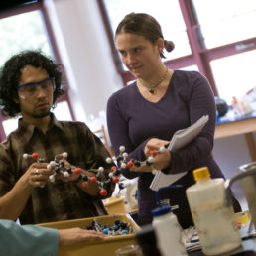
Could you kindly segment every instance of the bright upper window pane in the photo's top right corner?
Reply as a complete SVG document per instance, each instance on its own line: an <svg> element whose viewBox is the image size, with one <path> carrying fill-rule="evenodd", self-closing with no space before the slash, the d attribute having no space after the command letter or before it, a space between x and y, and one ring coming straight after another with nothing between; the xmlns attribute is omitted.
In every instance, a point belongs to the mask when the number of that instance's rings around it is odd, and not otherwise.
<svg viewBox="0 0 256 256"><path fill-rule="evenodd" d="M193 0L207 48L255 37L255 0Z"/></svg>

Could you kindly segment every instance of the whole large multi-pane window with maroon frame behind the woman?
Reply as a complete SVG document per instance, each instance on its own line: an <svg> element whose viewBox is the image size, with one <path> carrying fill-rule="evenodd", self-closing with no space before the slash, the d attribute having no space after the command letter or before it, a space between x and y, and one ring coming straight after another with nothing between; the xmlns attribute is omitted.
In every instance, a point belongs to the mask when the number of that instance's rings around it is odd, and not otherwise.
<svg viewBox="0 0 256 256"><path fill-rule="evenodd" d="M170 68L198 70L215 96L231 103L256 86L255 0L99 0L114 31L130 12L155 17L176 49L163 60ZM102 8L104 9L104 8ZM114 48L114 45L113 45ZM134 77L121 72L125 83Z"/></svg>

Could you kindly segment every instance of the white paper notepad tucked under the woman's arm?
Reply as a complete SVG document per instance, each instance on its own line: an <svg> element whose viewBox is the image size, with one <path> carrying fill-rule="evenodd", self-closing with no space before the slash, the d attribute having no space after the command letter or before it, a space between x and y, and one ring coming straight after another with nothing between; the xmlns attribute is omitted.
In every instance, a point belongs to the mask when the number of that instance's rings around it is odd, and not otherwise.
<svg viewBox="0 0 256 256"><path fill-rule="evenodd" d="M192 140L198 136L204 125L207 123L208 119L208 115L204 115L188 128L175 132L169 143L168 149L170 151L176 151L190 144ZM150 189L153 191L157 191L159 188L171 185L180 178L182 178L184 175L186 175L186 173L187 172L174 175L166 175L161 170L158 170L150 185Z"/></svg>

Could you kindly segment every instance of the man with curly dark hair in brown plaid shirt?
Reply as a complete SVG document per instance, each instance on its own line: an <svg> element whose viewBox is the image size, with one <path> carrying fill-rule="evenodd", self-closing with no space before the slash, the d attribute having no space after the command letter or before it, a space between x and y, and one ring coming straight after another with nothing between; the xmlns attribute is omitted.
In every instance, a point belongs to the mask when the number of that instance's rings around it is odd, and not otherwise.
<svg viewBox="0 0 256 256"><path fill-rule="evenodd" d="M101 199L114 190L107 150L84 123L58 121L50 111L64 93L60 67L40 52L25 51L1 69L1 111L22 117L18 129L0 145L0 218L35 224L107 214ZM68 154L65 164L80 168L86 177L103 167L105 192L99 193L97 182L82 186L76 174L60 174L51 183L54 171L48 165L63 152ZM41 161L23 157L33 153Z"/></svg>

